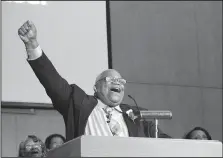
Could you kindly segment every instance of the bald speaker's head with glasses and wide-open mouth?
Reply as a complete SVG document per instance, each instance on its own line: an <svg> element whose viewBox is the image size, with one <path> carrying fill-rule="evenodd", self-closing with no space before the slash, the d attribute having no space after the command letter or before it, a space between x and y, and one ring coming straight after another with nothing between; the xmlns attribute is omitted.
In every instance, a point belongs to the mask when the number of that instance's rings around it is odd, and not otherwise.
<svg viewBox="0 0 223 158"><path fill-rule="evenodd" d="M102 73L96 83L98 98L108 106L119 105L124 97L125 80L115 70L107 70Z"/></svg>

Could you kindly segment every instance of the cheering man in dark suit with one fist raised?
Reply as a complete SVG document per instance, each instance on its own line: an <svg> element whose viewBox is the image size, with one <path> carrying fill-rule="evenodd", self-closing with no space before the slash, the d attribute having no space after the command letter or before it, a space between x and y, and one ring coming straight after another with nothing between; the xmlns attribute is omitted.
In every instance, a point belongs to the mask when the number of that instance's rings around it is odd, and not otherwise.
<svg viewBox="0 0 223 158"><path fill-rule="evenodd" d="M76 84L68 84L54 68L37 42L37 30L25 22L18 34L24 42L28 63L51 98L54 108L63 116L66 139L81 135L154 137L154 124L141 122L135 110L121 104L126 81L114 69L103 71L95 81L95 95L87 95ZM160 131L160 130L159 130ZM160 131L159 137L169 137Z"/></svg>

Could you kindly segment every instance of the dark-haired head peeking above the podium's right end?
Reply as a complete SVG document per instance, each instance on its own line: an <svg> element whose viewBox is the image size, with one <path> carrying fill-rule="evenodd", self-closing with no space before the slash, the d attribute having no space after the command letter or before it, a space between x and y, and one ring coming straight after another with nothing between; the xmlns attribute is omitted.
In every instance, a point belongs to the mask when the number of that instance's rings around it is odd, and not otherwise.
<svg viewBox="0 0 223 158"><path fill-rule="evenodd" d="M195 127L185 135L185 139L211 140L211 135L202 127Z"/></svg>

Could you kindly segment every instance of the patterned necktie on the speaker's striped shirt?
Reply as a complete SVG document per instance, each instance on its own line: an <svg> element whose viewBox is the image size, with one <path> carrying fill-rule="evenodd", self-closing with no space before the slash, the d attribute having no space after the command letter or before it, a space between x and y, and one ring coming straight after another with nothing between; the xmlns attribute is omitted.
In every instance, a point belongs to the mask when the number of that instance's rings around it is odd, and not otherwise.
<svg viewBox="0 0 223 158"><path fill-rule="evenodd" d="M106 114L107 123L113 136L119 136L119 134L121 133L121 125L112 117L112 111L114 110L114 108L107 107L103 108L103 110Z"/></svg>

